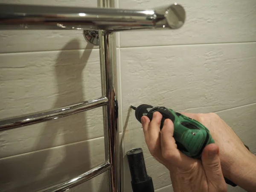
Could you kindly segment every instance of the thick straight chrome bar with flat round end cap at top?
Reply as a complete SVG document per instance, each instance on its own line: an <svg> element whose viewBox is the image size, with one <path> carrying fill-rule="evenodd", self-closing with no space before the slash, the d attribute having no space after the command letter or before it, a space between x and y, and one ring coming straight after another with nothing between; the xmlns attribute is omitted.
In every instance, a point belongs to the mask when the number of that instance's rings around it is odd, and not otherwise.
<svg viewBox="0 0 256 192"><path fill-rule="evenodd" d="M153 10L0 4L0 29L178 29L185 17L177 3Z"/></svg>

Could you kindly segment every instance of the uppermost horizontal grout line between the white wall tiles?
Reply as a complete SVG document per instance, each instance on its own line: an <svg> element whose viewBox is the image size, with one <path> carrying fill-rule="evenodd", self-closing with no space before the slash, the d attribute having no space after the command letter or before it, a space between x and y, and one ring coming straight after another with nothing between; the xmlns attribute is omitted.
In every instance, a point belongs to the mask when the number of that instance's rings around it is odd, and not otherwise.
<svg viewBox="0 0 256 192"><path fill-rule="evenodd" d="M119 48L120 49L129 49L129 48L141 48L141 47L172 47L172 46L193 46L193 45L218 45L218 44L253 44L256 43L256 41L250 41L250 42L225 42L225 43L204 43L204 44L173 44L173 45L145 45L145 46L131 46L131 47L121 47L120 45L120 32L118 35L119 38ZM94 50L97 50L99 48L93 48ZM0 55L4 55L4 54L20 54L20 53L34 53L34 52L58 52L58 51L75 51L75 50L90 50L90 49L55 49L55 50L41 50L41 51L25 51L25 52L1 52Z"/></svg>

